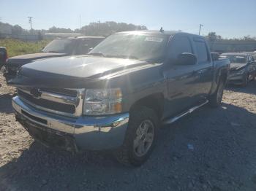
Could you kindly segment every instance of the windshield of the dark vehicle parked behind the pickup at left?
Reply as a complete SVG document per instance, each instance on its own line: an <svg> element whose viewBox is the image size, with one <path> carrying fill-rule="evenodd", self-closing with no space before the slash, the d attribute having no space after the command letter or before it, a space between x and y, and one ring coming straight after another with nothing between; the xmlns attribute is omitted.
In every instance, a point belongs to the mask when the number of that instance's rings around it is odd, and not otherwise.
<svg viewBox="0 0 256 191"><path fill-rule="evenodd" d="M73 42L72 39L55 39L42 52L70 53L72 52Z"/></svg>

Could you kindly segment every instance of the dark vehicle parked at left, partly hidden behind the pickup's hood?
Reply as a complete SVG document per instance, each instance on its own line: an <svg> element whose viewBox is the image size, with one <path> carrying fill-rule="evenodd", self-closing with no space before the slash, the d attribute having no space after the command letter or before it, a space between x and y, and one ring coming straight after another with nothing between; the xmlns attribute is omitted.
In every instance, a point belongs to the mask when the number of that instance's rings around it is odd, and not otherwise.
<svg viewBox="0 0 256 191"><path fill-rule="evenodd" d="M54 39L41 52L27 55L18 55L9 58L6 64L4 77L8 81L14 78L20 66L39 59L61 57L67 55L85 55L99 42L105 39L102 36L76 36Z"/></svg>

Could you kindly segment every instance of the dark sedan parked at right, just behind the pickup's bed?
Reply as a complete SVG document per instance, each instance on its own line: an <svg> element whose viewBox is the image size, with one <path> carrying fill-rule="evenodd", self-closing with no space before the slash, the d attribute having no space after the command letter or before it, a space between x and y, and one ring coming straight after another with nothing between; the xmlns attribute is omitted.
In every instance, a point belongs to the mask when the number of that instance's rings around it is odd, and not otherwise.
<svg viewBox="0 0 256 191"><path fill-rule="evenodd" d="M256 77L256 62L248 52L228 52L221 56L230 58L230 75L228 83L246 87L249 81Z"/></svg>

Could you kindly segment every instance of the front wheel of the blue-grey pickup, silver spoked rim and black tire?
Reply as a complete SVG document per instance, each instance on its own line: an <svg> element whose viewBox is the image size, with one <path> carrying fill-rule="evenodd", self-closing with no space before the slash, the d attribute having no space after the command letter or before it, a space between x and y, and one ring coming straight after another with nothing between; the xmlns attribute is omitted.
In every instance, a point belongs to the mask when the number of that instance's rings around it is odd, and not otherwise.
<svg viewBox="0 0 256 191"><path fill-rule="evenodd" d="M151 154L157 136L157 114L145 106L130 112L129 125L121 148L114 152L119 163L142 165Z"/></svg>

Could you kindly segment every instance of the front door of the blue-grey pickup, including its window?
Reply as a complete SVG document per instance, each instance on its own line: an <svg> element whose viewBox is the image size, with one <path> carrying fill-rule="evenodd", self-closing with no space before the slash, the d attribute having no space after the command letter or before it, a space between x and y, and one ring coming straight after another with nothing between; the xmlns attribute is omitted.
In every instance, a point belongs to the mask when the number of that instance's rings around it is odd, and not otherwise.
<svg viewBox="0 0 256 191"><path fill-rule="evenodd" d="M178 55L184 52L194 53L192 42L187 35L176 35L170 40L167 50L167 63L163 71L167 81L167 99L164 117L183 112L197 102L195 91L198 87L196 65L176 65Z"/></svg>

